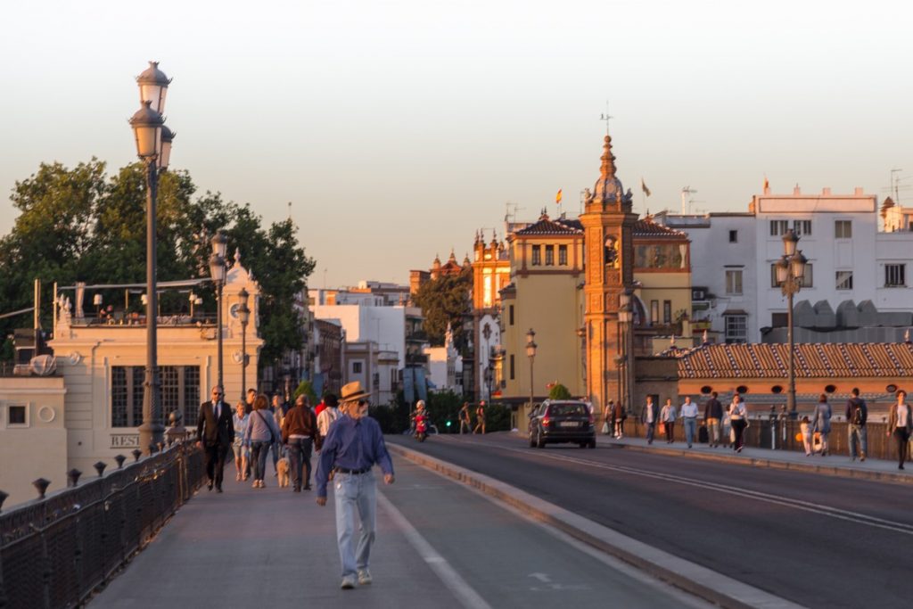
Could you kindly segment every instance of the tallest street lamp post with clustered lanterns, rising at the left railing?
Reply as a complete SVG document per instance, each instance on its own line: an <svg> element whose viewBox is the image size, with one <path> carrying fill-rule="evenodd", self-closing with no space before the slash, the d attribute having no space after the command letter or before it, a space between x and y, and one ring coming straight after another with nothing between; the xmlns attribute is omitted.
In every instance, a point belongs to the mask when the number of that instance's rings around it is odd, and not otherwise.
<svg viewBox="0 0 913 609"><path fill-rule="evenodd" d="M130 125L136 139L136 153L146 166L146 374L142 394L142 425L140 448L150 454L152 446L163 443L162 388L159 382L157 342L157 289L156 289L156 194L158 172L168 168L174 134L164 126L162 113L165 93L171 82L149 62L149 68L137 77L140 86L140 110L131 117Z"/></svg>

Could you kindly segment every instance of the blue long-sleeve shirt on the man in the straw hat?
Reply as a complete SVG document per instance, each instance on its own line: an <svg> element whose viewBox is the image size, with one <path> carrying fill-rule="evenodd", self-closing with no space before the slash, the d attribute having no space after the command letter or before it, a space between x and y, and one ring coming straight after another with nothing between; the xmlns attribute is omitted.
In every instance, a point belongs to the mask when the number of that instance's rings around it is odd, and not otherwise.
<svg viewBox="0 0 913 609"><path fill-rule="evenodd" d="M351 416L342 415L330 425L330 432L320 448L317 496L327 496L327 481L333 467L369 469L375 463L384 474L393 475L394 463L383 443L381 425L370 416L362 416L356 421Z"/></svg>

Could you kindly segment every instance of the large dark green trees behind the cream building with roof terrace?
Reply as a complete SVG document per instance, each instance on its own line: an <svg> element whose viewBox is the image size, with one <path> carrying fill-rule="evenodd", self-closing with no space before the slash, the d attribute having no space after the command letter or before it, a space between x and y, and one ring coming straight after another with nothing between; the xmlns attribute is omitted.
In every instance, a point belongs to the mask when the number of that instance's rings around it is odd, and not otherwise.
<svg viewBox="0 0 913 609"><path fill-rule="evenodd" d="M52 281L145 281L145 169L132 163L113 175L105 170L105 163L95 158L73 169L41 163L37 173L16 182L10 199L19 215L10 233L0 237L0 313L30 307L36 278L45 283L43 302L51 298ZM226 202L218 193L195 193L189 173L159 175L158 280L208 277L208 239L224 230L229 251L240 249L243 264L260 285L266 344L259 362L268 366L301 344L304 320L294 302L315 262L299 245L290 219L264 226L249 204ZM42 323L50 326L49 308ZM22 318L0 319L0 336L23 324ZM11 354L8 345L4 353Z"/></svg>

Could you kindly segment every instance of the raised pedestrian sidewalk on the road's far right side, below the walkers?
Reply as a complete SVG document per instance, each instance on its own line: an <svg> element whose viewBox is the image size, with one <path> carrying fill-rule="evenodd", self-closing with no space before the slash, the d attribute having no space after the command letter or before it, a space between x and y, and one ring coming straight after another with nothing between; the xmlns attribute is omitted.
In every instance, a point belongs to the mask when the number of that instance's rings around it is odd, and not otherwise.
<svg viewBox="0 0 913 609"><path fill-rule="evenodd" d="M663 438L655 439L652 445L647 444L645 438L642 437L615 439L612 436L600 435L597 436L596 441L601 446L619 446L627 450L663 455L740 463L752 467L791 469L793 471L811 472L840 478L913 484L913 463L908 462L905 469L897 469L896 460L866 458L865 461L853 461L850 457L842 455L828 455L827 457L813 455L806 457L805 453L798 451L750 448L748 446L742 448L740 453L737 453L731 447L727 448L725 446L711 448L706 444L695 444L692 448L688 448L687 444L681 441L666 444L666 440Z"/></svg>

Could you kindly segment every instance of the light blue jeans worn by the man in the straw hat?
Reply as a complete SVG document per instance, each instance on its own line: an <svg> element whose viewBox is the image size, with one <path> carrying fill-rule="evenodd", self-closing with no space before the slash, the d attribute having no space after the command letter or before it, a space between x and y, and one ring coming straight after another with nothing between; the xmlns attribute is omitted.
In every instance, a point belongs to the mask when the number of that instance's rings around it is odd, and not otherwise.
<svg viewBox="0 0 913 609"><path fill-rule="evenodd" d="M336 491L336 541L340 547L342 577L346 577L368 568L377 525L377 482L373 471L364 474L337 472L332 484Z"/></svg>

